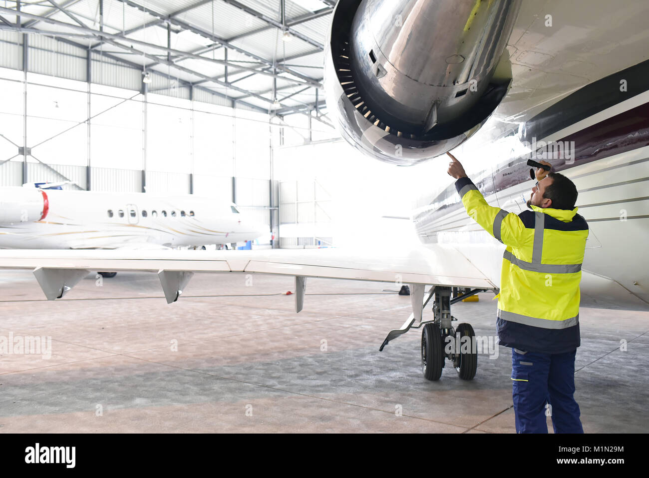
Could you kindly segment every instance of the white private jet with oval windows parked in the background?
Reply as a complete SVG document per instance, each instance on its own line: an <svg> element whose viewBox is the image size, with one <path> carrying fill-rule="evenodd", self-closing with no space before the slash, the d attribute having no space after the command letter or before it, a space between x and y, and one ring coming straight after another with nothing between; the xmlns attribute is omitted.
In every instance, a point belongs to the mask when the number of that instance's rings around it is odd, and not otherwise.
<svg viewBox="0 0 649 478"><path fill-rule="evenodd" d="M232 244L267 233L234 203L48 186L0 187L0 248L169 249Z"/></svg>

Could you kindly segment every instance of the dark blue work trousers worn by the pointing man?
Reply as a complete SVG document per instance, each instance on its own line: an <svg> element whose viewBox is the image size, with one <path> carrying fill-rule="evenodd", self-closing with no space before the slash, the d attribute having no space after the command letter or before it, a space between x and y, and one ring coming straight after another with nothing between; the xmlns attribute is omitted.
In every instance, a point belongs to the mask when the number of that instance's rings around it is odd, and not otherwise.
<svg viewBox="0 0 649 478"><path fill-rule="evenodd" d="M516 433L583 433L574 400L574 357L567 353L535 353L511 349L512 397Z"/></svg>

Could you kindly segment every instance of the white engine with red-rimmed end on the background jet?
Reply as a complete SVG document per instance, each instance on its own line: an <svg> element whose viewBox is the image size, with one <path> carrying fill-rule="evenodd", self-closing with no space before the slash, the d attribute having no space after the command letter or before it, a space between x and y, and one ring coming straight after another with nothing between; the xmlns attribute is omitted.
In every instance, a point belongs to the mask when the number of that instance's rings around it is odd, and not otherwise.
<svg viewBox="0 0 649 478"><path fill-rule="evenodd" d="M48 208L47 194L40 189L0 188L0 224L40 221Z"/></svg>

